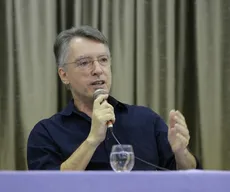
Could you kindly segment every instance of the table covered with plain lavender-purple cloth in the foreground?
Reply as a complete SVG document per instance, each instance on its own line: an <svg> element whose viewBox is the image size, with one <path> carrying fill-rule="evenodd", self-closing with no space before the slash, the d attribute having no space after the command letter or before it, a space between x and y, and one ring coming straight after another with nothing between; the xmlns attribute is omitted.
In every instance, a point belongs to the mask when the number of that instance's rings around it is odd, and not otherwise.
<svg viewBox="0 0 230 192"><path fill-rule="evenodd" d="M0 192L230 192L230 171L1 171Z"/></svg>

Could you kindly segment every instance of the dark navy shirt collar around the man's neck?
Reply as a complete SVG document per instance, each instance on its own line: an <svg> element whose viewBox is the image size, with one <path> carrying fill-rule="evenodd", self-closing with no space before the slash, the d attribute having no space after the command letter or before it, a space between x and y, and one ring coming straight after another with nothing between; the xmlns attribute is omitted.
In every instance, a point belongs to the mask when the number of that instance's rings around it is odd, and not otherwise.
<svg viewBox="0 0 230 192"><path fill-rule="evenodd" d="M108 102L114 107L114 109L118 109L120 111L127 109L125 104L119 102L112 96L108 97ZM64 116L70 116L73 112L76 112L76 111L78 110L74 105L74 100L71 99L68 105L61 112L59 112L59 114L64 115Z"/></svg>

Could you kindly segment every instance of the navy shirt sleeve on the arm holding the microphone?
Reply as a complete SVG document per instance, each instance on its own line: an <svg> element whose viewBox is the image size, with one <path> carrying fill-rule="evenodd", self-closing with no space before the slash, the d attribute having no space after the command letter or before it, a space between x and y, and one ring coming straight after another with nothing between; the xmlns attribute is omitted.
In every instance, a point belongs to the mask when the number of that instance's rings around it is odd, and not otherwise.
<svg viewBox="0 0 230 192"><path fill-rule="evenodd" d="M27 142L29 170L60 170L61 153L44 124L39 122L31 131Z"/></svg>

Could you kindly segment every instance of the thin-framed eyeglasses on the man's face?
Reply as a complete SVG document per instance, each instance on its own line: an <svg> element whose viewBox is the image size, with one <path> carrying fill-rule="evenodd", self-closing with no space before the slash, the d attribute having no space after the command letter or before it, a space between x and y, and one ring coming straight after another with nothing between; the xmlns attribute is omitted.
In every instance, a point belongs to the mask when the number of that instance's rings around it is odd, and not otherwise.
<svg viewBox="0 0 230 192"><path fill-rule="evenodd" d="M64 65L75 64L80 69L92 69L94 61L97 61L101 66L107 67L110 65L110 57L107 55L99 56L97 59L91 57L80 58L71 63L64 63Z"/></svg>

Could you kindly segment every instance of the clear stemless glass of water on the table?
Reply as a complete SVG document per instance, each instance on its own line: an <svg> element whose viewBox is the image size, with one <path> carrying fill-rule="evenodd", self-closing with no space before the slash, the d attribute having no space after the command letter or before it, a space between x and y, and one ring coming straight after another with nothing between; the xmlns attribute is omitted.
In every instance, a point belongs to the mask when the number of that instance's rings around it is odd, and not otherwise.
<svg viewBox="0 0 230 192"><path fill-rule="evenodd" d="M132 145L114 145L110 153L110 165L115 172L130 172L135 163Z"/></svg>

